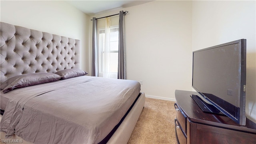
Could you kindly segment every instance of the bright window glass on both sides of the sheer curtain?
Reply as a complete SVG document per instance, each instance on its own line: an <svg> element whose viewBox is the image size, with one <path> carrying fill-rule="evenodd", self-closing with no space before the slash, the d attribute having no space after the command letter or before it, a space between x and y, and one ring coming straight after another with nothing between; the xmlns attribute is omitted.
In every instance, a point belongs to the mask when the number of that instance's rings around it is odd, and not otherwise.
<svg viewBox="0 0 256 144"><path fill-rule="evenodd" d="M117 78L118 72L118 26L110 27L110 78ZM99 76L104 74L105 29L99 29Z"/></svg>

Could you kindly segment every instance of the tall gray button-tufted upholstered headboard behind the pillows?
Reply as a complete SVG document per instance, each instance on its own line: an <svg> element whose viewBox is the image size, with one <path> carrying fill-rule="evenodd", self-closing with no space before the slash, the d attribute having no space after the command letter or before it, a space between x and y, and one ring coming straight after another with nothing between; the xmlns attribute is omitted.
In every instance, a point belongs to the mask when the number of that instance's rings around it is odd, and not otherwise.
<svg viewBox="0 0 256 144"><path fill-rule="evenodd" d="M13 76L80 68L80 40L1 22L1 84Z"/></svg>

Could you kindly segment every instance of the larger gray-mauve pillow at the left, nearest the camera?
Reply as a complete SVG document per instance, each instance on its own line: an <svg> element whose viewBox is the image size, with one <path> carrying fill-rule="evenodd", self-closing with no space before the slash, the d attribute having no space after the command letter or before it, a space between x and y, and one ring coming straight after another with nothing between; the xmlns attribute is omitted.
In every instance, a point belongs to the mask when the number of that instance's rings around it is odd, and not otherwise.
<svg viewBox="0 0 256 144"><path fill-rule="evenodd" d="M26 86L33 86L36 84L43 84L46 82L54 82L59 80L61 76L50 72L39 72L32 74L22 74L9 78L1 84L3 92L9 92L15 88L24 88Z"/></svg>

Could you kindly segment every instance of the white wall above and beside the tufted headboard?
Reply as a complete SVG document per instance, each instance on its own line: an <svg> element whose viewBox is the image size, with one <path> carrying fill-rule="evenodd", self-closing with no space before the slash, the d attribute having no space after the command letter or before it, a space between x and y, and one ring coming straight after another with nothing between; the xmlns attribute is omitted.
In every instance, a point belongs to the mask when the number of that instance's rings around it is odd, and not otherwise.
<svg viewBox="0 0 256 144"><path fill-rule="evenodd" d="M88 71L90 19L64 1L0 1L1 22L81 40L81 68Z"/></svg>

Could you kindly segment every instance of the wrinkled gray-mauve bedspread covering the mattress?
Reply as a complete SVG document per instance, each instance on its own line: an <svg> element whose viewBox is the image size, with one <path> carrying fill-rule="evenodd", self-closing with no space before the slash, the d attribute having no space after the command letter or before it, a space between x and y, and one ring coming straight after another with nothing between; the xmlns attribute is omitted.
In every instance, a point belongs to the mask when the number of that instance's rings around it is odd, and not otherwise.
<svg viewBox="0 0 256 144"><path fill-rule="evenodd" d="M139 92L136 81L92 76L12 90L0 130L40 144L98 143Z"/></svg>

